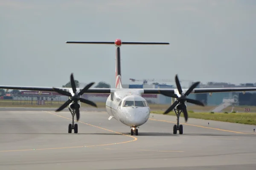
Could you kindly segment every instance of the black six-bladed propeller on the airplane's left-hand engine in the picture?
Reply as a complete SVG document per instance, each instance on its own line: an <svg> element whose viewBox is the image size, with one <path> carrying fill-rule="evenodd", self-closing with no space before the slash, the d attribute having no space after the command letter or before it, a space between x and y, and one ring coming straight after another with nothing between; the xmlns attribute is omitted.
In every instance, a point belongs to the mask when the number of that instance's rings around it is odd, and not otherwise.
<svg viewBox="0 0 256 170"><path fill-rule="evenodd" d="M71 87L72 87L72 90L73 90L73 95L70 92L63 91L63 90L61 90L59 88L53 88L53 90L56 91L57 93L62 94L64 96L71 97L71 99L68 99L67 102L65 102L63 105L61 105L61 107L58 108L56 110L56 112L57 111L62 111L71 102L74 102L75 110L76 110L76 119L77 119L77 121L79 121L79 117L80 117L79 104L78 104L79 100L80 100L80 102L83 102L83 103L86 103L88 105L92 105L94 107L97 107L97 105L94 102L92 102L90 100L87 100L87 99L81 98L81 95L83 95L94 84L94 82L91 82L88 85L86 85L79 93L76 91L76 83L75 83L73 74L71 74L71 76L70 76L70 83L71 83Z"/></svg>

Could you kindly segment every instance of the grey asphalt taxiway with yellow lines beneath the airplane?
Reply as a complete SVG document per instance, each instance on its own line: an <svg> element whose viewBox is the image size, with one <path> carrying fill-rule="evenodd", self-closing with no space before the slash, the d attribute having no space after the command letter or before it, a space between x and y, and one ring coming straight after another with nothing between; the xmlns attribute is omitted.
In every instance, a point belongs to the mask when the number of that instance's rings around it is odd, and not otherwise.
<svg viewBox="0 0 256 170"><path fill-rule="evenodd" d="M0 108L0 169L4 170L255 170L255 126L151 114L130 127L104 111L81 111L78 134L71 114L55 108ZM87 111L86 111L87 110ZM208 125L209 122L209 125Z"/></svg>

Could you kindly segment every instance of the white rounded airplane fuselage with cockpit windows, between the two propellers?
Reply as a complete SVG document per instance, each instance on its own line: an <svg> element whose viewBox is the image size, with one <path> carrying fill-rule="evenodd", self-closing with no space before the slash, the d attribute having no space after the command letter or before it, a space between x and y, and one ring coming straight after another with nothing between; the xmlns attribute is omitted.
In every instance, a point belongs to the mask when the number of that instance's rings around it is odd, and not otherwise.
<svg viewBox="0 0 256 170"><path fill-rule="evenodd" d="M132 89L116 89L108 96L106 110L109 116L130 127L143 125L150 114L147 101Z"/></svg>

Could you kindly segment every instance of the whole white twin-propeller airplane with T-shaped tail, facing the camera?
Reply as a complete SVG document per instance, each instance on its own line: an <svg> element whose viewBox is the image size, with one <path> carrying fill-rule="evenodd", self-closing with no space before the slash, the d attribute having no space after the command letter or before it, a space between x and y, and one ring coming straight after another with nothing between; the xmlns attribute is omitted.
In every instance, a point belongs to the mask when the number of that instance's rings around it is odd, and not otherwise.
<svg viewBox="0 0 256 170"><path fill-rule="evenodd" d="M177 116L177 124L173 126L173 133L177 134L177 130L180 134L183 134L183 125L179 124L180 114L184 114L185 121L188 120L188 112L186 110L186 102L204 106L204 103L189 99L189 94L199 93L216 93L216 92L231 92L231 91L256 91L256 88L195 88L200 82L195 82L189 89L182 89L180 81L175 76L175 82L177 89L155 89L155 88L122 88L121 77L121 58L120 58L120 46L122 44L151 44L160 45L169 42L122 42L120 39L116 39L114 42L66 42L66 43L81 43L81 44L114 44L116 45L116 82L115 88L90 88L94 82L89 83L84 88L76 88L73 74L70 76L70 82L72 88L54 88L54 87L33 87L33 86L11 86L0 85L0 89L17 89L17 90L32 90L32 91L56 91L59 94L69 96L67 102L61 105L56 111L62 111L68 107L72 115L72 124L68 126L68 133L78 133L78 124L74 124L74 117L76 115L77 121L79 121L81 107L80 102L84 102L88 105L97 107L97 105L87 99L81 98L82 94L110 94L106 101L106 110L109 114L109 120L112 118L122 122L124 125L131 127L131 135L138 135L138 127L145 124L148 121L150 108L148 102L141 96L141 94L163 94L165 96L175 98L175 102L163 113L167 114L174 110Z"/></svg>

